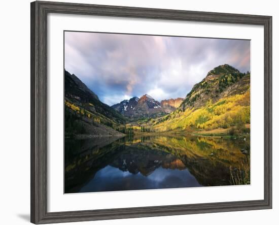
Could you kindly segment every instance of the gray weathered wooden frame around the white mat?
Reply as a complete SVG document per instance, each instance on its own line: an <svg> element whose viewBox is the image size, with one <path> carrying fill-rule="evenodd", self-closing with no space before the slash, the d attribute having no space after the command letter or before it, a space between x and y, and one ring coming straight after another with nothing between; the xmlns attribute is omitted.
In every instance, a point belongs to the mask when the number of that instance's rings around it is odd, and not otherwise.
<svg viewBox="0 0 279 225"><path fill-rule="evenodd" d="M47 211L48 13L186 20L264 27L264 199L85 211ZM272 17L58 2L31 3L31 222L54 223L272 208Z"/></svg>

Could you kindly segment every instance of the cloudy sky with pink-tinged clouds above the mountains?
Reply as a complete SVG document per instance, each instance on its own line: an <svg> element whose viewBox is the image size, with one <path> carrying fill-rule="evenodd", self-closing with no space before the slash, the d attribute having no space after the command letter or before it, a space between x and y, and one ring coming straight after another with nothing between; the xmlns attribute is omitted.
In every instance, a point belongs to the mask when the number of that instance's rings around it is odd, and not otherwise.
<svg viewBox="0 0 279 225"><path fill-rule="evenodd" d="M225 63L250 71L250 41L65 32L65 69L113 105L144 94L185 98Z"/></svg>

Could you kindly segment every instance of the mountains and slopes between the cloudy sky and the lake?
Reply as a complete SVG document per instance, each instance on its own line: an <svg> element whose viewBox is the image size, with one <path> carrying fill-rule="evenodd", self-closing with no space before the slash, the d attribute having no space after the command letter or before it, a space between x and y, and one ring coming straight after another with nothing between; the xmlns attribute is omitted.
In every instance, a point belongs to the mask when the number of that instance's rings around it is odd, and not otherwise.
<svg viewBox="0 0 279 225"><path fill-rule="evenodd" d="M111 107L77 76L67 71L64 76L66 136L250 134L250 72L240 73L229 65L208 72L185 98L159 102L144 94Z"/></svg>

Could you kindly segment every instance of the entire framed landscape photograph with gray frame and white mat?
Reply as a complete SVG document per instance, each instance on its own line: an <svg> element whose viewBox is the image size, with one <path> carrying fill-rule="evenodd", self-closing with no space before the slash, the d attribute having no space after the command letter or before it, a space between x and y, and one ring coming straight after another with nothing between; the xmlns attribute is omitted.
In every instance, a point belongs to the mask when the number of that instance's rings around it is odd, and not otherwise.
<svg viewBox="0 0 279 225"><path fill-rule="evenodd" d="M272 207L272 17L31 3L31 222Z"/></svg>

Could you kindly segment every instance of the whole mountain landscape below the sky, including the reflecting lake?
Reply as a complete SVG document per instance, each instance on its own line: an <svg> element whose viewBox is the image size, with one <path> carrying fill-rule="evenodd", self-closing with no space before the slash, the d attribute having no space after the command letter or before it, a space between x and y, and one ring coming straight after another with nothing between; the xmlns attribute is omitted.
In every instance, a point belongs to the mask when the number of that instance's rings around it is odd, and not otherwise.
<svg viewBox="0 0 279 225"><path fill-rule="evenodd" d="M250 184L250 72L222 65L185 98L111 107L64 76L65 193Z"/></svg>

